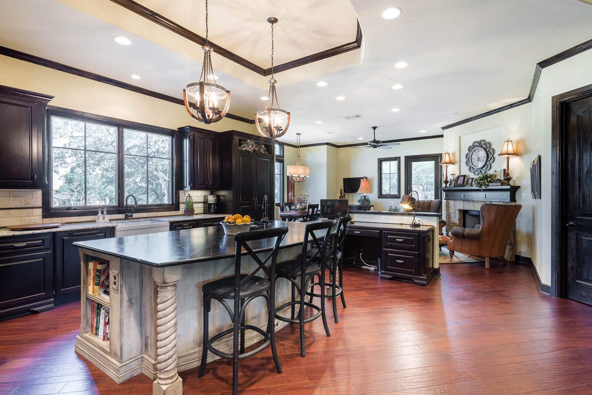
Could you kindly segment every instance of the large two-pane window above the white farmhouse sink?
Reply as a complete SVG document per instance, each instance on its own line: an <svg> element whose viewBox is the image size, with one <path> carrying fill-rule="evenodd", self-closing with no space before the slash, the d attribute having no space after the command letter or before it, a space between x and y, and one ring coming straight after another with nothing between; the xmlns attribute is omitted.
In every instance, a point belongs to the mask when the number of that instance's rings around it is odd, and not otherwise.
<svg viewBox="0 0 592 395"><path fill-rule="evenodd" d="M144 208L174 210L174 141L172 130L50 111L44 214L123 213L130 194Z"/></svg>

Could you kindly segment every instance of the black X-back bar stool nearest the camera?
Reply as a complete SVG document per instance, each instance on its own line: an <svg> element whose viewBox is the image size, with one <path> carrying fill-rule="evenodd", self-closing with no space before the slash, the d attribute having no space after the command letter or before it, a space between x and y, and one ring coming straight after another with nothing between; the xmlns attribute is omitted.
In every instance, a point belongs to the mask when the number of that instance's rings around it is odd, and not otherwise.
<svg viewBox="0 0 592 395"><path fill-rule="evenodd" d="M198 377L202 377L205 371L205 363L208 357L208 350L221 358L232 359L232 393L237 395L239 391L239 359L252 357L271 344L271 352L274 356L275 367L278 373L282 372L282 365L279 363L278 352L275 347L275 269L278 256L278 246L288 233L288 227L272 229L253 230L242 232L234 236L236 252L234 253L234 275L210 281L204 284L204 344L201 355L201 367ZM275 238L275 240L274 240ZM251 242L250 244L247 242ZM260 259L253 250L262 248L273 248L265 259ZM247 252L257 263L257 268L249 274L241 271L242 251ZM269 267L266 264L269 263ZM259 271L265 272L265 277L260 277ZM244 322L247 305L255 298L263 297L267 302L268 317L266 330L258 326L246 325ZM209 337L208 318L210 316L212 300L217 300L228 311L233 326L223 330L214 336ZM229 303L227 300L233 301ZM263 336L263 343L249 352L244 352L244 332L253 330ZM214 346L214 342L224 336L232 335L232 354L221 351Z"/></svg>

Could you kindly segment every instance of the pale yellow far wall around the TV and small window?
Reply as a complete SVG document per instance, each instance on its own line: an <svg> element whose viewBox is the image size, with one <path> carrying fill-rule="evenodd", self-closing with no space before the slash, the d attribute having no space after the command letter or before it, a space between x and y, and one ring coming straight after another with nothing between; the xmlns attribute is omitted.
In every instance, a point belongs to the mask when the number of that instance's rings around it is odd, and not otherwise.
<svg viewBox="0 0 592 395"><path fill-rule="evenodd" d="M443 139L414 140L401 142L390 150L365 148L340 148L337 153L337 194L343 188L343 178L367 176L372 193L368 194L371 204L377 211L385 211L389 205L398 205L396 199L378 198L378 158L400 157L401 159L401 195L405 185L405 156L429 155L442 153ZM450 173L450 172L449 172ZM361 194L346 194L350 204L358 204Z"/></svg>

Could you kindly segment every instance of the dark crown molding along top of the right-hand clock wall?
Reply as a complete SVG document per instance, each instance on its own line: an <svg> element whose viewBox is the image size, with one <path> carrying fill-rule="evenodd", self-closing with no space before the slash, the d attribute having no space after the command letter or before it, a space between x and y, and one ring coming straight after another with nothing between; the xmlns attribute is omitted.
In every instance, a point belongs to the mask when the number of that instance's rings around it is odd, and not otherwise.
<svg viewBox="0 0 592 395"><path fill-rule="evenodd" d="M539 85L540 74L542 70L546 67L551 65L555 65L555 63L559 63L562 60L568 59L572 56L580 54L582 52L586 52L587 50L592 48L592 39L588 41L584 41L581 44L571 47L570 49L566 49L565 51L559 52L551 57L548 57L545 60L541 60L539 63L535 65L535 73L532 76L532 82L530 83L530 91L528 92L528 97L502 107L496 108L495 110L487 111L485 113L473 115L472 117L465 118L464 120L448 124L442 127L442 130L451 129L452 127L456 127L465 123L469 123L481 118L488 117L489 115L501 113L502 111L510 110L510 108L518 107L523 104L527 104L532 102L532 99L535 97L536 88Z"/></svg>

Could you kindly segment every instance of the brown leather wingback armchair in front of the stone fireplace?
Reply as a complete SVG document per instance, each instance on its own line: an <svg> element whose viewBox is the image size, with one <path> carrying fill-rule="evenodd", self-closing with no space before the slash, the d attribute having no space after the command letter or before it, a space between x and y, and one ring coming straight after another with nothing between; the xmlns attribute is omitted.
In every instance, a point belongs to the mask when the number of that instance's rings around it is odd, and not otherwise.
<svg viewBox="0 0 592 395"><path fill-rule="evenodd" d="M522 204L519 203L481 205L481 222L475 226L475 229L456 226L450 231L452 240L448 242L446 248L451 258L454 252L458 251L484 256L485 269L489 269L491 256L500 256L505 264L506 246L520 208Z"/></svg>

